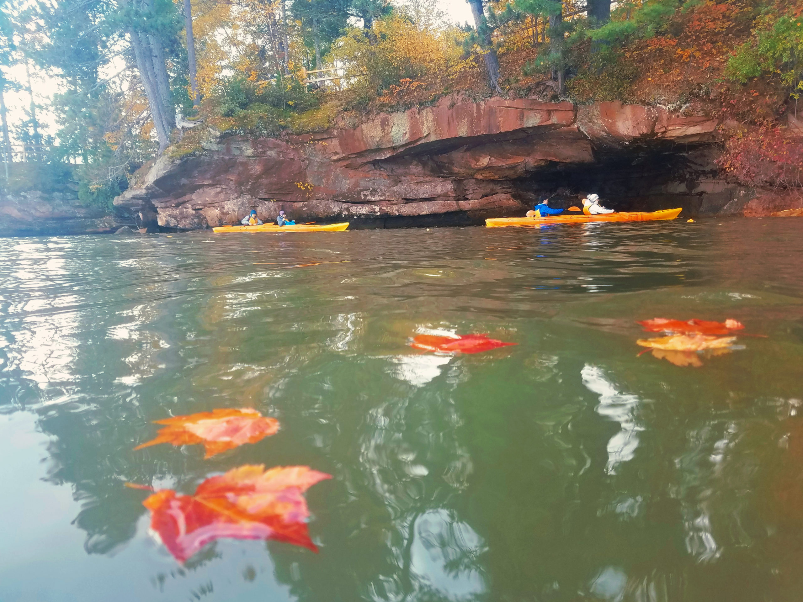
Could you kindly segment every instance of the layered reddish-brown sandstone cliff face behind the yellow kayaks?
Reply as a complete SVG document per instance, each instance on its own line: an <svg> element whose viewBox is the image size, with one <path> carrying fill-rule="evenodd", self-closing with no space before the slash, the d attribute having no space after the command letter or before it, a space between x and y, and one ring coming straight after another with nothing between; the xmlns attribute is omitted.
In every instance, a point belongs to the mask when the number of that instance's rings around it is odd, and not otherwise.
<svg viewBox="0 0 803 602"><path fill-rule="evenodd" d="M552 181L564 170L566 180L572 170L593 169L605 153L712 142L718 125L621 103L444 98L353 129L230 136L192 157L161 157L115 205L141 212L145 222L188 230L236 223L250 209L264 221L281 209L299 221L403 224L456 214L479 221L522 214L540 174Z"/></svg>

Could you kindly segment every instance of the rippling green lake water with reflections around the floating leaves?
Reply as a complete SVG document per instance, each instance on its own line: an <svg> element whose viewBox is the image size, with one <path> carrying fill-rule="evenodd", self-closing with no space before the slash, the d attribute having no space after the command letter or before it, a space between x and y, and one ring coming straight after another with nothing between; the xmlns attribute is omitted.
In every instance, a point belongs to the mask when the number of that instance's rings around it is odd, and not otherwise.
<svg viewBox="0 0 803 602"><path fill-rule="evenodd" d="M801 600L801 226L0 239L0 600ZM766 337L681 368L637 357L657 316ZM281 430L132 450L241 407ZM123 486L247 463L333 475L319 554L181 567Z"/></svg>

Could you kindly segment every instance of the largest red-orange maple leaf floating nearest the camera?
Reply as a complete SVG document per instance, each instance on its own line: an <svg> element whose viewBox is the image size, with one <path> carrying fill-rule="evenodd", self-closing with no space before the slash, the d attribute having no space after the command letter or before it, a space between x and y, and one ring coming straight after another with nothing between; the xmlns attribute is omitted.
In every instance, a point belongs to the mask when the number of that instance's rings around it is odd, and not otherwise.
<svg viewBox="0 0 803 602"><path fill-rule="evenodd" d="M312 551L304 491L331 474L309 466L245 465L207 478L194 495L158 490L142 502L151 529L180 562L215 539L275 539Z"/></svg>

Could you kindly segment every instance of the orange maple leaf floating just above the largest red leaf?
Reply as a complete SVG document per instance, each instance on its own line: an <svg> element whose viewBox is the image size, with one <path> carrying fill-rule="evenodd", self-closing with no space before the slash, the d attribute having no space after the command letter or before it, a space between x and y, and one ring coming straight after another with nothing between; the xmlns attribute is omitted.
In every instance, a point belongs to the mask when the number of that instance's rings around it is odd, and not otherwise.
<svg viewBox="0 0 803 602"><path fill-rule="evenodd" d="M157 437L134 449L150 445L170 443L172 445L194 445L203 443L206 449L204 458L211 458L243 443L256 443L279 430L279 421L266 418L255 409L214 409L188 416L176 416L157 420Z"/></svg>

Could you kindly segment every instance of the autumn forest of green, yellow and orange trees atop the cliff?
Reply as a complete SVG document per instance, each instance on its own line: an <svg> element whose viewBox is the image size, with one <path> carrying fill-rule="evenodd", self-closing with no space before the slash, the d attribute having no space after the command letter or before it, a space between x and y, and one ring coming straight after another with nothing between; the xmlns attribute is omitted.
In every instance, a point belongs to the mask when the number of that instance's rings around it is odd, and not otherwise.
<svg viewBox="0 0 803 602"><path fill-rule="evenodd" d="M222 133L349 127L450 93L717 113L741 124L728 148L748 155L764 152L767 132L786 140L781 121L797 113L800 2L469 4L473 21L458 26L436 0L4 0L0 179L8 189L21 146L25 161L70 173L82 202L110 206L149 161ZM26 78L13 75L22 65ZM47 107L31 68L59 82ZM12 91L31 97L15 122Z"/></svg>

